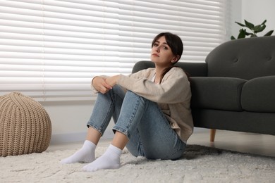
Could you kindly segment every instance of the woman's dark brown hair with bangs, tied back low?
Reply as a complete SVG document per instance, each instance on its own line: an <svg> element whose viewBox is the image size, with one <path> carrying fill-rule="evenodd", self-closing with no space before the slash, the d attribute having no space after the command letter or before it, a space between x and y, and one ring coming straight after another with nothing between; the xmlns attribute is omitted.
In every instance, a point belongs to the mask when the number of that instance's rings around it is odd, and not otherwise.
<svg viewBox="0 0 275 183"><path fill-rule="evenodd" d="M157 42L157 40L160 37L165 37L166 39L166 43L168 44L168 46L171 48L172 53L175 56L178 56L178 60L174 63L171 63L171 66L166 68L164 70L164 72L161 74L161 78L159 83L161 82L162 78L164 77L164 75L169 72L169 70L171 70L171 68L173 68L173 65L175 63L177 63L180 59L181 59L181 55L183 54L183 42L181 41L181 38L178 37L178 35L176 34L172 34L170 32L161 32L159 34L157 34L156 37L154 37L153 41L152 41L152 47L154 46L154 43Z"/></svg>

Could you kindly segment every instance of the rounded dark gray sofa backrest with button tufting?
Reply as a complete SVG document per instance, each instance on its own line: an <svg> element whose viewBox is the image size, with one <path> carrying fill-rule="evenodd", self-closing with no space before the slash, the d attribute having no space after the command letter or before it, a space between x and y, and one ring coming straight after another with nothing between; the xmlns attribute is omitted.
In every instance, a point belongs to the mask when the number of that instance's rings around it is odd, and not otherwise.
<svg viewBox="0 0 275 183"><path fill-rule="evenodd" d="M251 80L275 75L275 36L225 42L208 54L206 63L209 77Z"/></svg>

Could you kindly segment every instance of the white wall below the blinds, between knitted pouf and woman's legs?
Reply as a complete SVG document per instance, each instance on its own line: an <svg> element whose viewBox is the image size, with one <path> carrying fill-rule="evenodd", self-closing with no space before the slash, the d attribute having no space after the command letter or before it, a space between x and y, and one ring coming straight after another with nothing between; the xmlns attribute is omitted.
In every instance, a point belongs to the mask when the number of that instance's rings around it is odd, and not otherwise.
<svg viewBox="0 0 275 183"><path fill-rule="evenodd" d="M87 121L94 101L45 101L40 102L51 118L51 144L82 141L87 132ZM114 122L111 122L114 124ZM111 124L103 138L113 137Z"/></svg>

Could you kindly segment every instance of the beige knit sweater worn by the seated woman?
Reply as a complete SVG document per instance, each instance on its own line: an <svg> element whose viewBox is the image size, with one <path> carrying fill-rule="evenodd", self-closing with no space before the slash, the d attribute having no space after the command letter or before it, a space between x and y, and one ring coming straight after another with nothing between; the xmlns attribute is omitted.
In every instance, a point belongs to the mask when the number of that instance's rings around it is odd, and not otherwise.
<svg viewBox="0 0 275 183"><path fill-rule="evenodd" d="M148 68L130 75L119 75L118 84L145 99L157 102L171 128L186 143L193 133L193 118L190 110L191 89L188 77L181 68L171 68L161 84L152 82L155 69ZM94 90L94 87L92 87Z"/></svg>

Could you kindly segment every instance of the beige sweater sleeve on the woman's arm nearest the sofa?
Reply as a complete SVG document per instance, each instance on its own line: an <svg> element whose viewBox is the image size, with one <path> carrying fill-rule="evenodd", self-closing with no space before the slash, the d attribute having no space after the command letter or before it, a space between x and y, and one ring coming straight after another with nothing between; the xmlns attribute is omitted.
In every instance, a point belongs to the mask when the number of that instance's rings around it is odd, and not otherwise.
<svg viewBox="0 0 275 183"><path fill-rule="evenodd" d="M120 75L118 84L157 103L179 103L190 99L190 83L181 68L171 68L164 75L161 84L155 84L148 80L148 77L138 77L145 73L137 72L136 75L129 76Z"/></svg>

